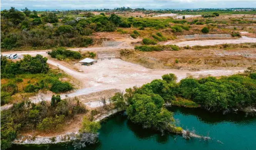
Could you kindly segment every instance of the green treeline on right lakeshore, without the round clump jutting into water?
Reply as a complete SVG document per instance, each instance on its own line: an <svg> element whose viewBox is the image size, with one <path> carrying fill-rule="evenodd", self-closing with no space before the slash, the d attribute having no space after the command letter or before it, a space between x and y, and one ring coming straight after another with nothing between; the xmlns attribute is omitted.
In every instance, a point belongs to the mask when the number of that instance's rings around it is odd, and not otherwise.
<svg viewBox="0 0 256 150"><path fill-rule="evenodd" d="M166 102L177 97L189 99L208 110L242 109L256 104L256 73L249 75L186 78L176 83L173 74L164 75L163 80L153 80L141 87L144 92L159 94Z"/></svg>

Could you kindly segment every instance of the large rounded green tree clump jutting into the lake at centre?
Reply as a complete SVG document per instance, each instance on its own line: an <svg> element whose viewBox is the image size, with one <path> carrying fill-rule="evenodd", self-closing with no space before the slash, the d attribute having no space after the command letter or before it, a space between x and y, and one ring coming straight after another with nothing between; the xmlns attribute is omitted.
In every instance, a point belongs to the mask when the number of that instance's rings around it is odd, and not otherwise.
<svg viewBox="0 0 256 150"><path fill-rule="evenodd" d="M159 95L135 94L131 105L127 108L128 118L141 124L144 128L152 128L160 131L167 129L174 122L172 113L162 108L164 100Z"/></svg>

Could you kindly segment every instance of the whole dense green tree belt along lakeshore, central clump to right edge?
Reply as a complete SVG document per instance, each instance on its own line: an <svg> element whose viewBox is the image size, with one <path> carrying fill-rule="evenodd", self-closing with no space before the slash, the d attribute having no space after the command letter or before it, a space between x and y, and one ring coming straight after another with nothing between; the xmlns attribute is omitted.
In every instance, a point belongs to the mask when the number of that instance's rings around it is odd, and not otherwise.
<svg viewBox="0 0 256 150"><path fill-rule="evenodd" d="M164 103L186 107L203 107L207 110L243 109L256 105L256 73L233 76L187 77L176 82L174 74L165 74L141 87L126 89L111 98L116 108L127 110L128 118L145 128L181 133L175 127L172 113ZM128 104L128 105L127 105Z"/></svg>

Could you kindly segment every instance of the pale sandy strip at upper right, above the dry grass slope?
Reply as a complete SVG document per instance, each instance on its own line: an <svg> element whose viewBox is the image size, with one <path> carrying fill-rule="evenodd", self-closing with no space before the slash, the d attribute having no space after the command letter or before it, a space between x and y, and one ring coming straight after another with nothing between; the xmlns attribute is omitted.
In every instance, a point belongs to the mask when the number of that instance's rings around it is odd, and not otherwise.
<svg viewBox="0 0 256 150"><path fill-rule="evenodd" d="M246 36L242 36L242 38L238 39L226 39L226 40L194 40L194 41L184 41L175 43L175 41L169 41L164 43L164 45L175 44L177 46L196 46L196 45L219 45L219 44L239 44L239 43L255 43L256 38L248 38Z"/></svg>

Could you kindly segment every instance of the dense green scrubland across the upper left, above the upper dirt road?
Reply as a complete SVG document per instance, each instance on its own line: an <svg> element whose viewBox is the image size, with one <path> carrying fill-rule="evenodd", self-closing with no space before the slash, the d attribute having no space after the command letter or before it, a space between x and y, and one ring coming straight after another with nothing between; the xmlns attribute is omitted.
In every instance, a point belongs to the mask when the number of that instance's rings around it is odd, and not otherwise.
<svg viewBox="0 0 256 150"><path fill-rule="evenodd" d="M131 26L140 30L144 30L146 27L162 29L170 26L170 22L186 23L186 20L174 20L172 18L162 20L122 18L113 13L110 16L105 16L105 13L94 15L87 12L76 14L76 16L84 16L86 19L76 20L74 15L70 16L69 13L64 12L37 14L36 11L31 12L27 8L23 12L14 7L10 10L2 10L1 48L86 47L93 44L93 39L89 36L97 31L114 31L117 27L130 28Z"/></svg>

